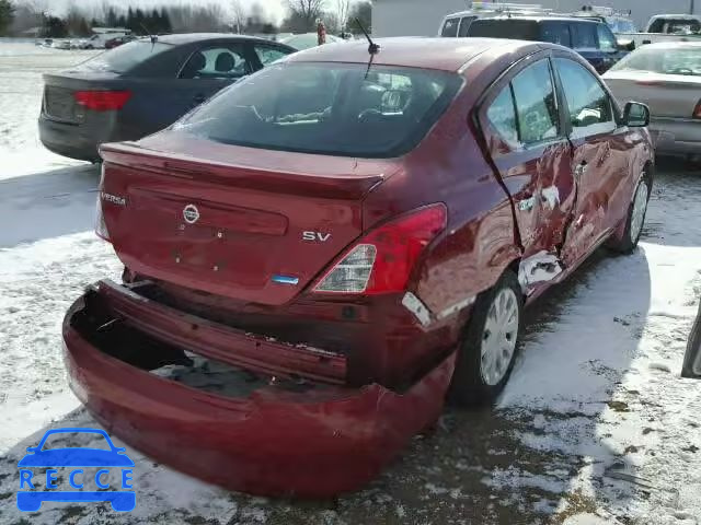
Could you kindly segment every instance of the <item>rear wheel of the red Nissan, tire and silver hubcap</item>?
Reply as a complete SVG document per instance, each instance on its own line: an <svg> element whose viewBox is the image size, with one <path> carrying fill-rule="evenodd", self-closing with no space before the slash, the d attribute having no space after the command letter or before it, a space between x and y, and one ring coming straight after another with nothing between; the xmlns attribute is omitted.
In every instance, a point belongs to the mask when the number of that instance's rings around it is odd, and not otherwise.
<svg viewBox="0 0 701 525"><path fill-rule="evenodd" d="M458 353L449 398L462 406L493 402L518 350L524 299L512 271L478 298Z"/></svg>

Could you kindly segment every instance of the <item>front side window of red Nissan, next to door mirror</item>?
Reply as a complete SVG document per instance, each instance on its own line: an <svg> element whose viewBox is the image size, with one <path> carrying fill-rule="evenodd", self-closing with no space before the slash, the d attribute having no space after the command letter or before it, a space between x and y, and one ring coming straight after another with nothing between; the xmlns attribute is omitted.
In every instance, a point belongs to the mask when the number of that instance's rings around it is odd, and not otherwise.
<svg viewBox="0 0 701 525"><path fill-rule="evenodd" d="M611 100L599 81L584 67L566 58L555 59L573 137L611 132L616 129Z"/></svg>

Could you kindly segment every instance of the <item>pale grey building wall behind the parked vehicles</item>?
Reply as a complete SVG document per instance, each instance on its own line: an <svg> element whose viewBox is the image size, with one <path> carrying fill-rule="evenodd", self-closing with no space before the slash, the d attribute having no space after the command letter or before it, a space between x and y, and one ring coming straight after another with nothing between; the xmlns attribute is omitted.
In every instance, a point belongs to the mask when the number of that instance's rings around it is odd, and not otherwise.
<svg viewBox="0 0 701 525"><path fill-rule="evenodd" d="M701 0L508 0L510 3L539 3L545 9L567 13L583 5L606 5L631 10L639 28L651 16L665 13L701 14ZM487 3L484 1L483 3ZM497 2L498 3L498 2ZM372 36L435 36L446 14L470 9L470 0L372 0Z"/></svg>

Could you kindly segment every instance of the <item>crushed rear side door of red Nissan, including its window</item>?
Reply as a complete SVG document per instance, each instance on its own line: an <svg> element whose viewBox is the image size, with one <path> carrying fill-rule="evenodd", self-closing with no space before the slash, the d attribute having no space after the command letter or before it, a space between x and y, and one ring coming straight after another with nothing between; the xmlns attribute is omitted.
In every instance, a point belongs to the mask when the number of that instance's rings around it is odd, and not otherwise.
<svg viewBox="0 0 701 525"><path fill-rule="evenodd" d="M571 149L559 106L550 59L539 54L502 79L480 109L491 156L514 201L525 260L559 257L574 206ZM525 276L522 283L532 288L553 278L558 265L549 270L550 276Z"/></svg>

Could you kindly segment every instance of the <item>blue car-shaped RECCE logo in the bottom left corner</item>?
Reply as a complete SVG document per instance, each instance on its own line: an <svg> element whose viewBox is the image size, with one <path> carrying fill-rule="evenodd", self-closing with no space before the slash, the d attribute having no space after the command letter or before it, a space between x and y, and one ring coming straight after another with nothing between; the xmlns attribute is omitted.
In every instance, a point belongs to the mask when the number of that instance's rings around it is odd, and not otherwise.
<svg viewBox="0 0 701 525"><path fill-rule="evenodd" d="M104 438L108 450L93 447L65 447L44 450L47 439L55 434L93 434L90 438ZM94 435L97 434L97 435ZM54 438L53 438L54 439ZM44 434L37 446L30 446L26 456L20 459L20 490L18 509L23 512L38 511L44 501L71 503L110 502L117 512L128 512L136 506L136 492L131 486L134 462L125 454L125 448L114 446L104 430L100 429L55 429ZM36 490L43 475L32 470L35 467L49 467L45 472L45 490ZM71 489L58 490L57 468L67 470ZM95 470L94 476L89 474ZM87 470L88 469L88 470ZM113 469L119 469L119 488L111 488L108 476ZM82 490L88 482L101 490ZM26 490L23 490L26 489Z"/></svg>

